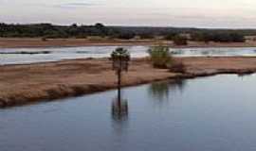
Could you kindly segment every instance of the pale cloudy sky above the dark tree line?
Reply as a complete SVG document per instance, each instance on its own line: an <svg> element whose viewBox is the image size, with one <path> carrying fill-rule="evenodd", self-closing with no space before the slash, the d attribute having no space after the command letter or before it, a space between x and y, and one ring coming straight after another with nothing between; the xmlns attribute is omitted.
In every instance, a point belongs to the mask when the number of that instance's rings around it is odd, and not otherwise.
<svg viewBox="0 0 256 151"><path fill-rule="evenodd" d="M256 28L256 0L0 0L0 22Z"/></svg>

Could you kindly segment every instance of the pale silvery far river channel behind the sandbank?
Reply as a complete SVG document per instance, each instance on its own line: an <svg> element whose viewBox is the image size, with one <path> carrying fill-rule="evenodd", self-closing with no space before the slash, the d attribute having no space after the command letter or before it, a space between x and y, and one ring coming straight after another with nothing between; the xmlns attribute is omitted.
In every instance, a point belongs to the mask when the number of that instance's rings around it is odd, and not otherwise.
<svg viewBox="0 0 256 151"><path fill-rule="evenodd" d="M0 48L0 64L25 64L61 59L108 58L117 46L57 47L57 48ZM148 56L147 46L126 46L133 58ZM183 48L171 49L176 57L256 56L250 48Z"/></svg>

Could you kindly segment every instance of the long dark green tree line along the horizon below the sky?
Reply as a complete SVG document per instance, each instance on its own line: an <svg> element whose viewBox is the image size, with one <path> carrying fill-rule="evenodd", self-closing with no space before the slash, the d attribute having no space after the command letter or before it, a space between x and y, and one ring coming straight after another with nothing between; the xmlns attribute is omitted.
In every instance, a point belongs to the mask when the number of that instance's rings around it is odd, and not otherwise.
<svg viewBox="0 0 256 151"><path fill-rule="evenodd" d="M181 35L190 35L190 37ZM87 38L100 36L113 39L130 40L154 39L161 37L170 41L187 39L198 42L245 42L245 36L256 35L254 29L204 29L178 27L149 27L149 26L106 26L96 25L51 25L51 24L0 24L0 37L6 38Z"/></svg>

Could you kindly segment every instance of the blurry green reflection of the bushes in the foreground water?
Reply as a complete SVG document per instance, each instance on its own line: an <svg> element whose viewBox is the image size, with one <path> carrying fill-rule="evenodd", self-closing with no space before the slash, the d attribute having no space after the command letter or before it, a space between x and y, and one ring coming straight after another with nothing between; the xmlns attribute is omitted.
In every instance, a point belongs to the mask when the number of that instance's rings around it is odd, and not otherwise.
<svg viewBox="0 0 256 151"><path fill-rule="evenodd" d="M169 100L170 92L183 92L185 84L184 79L155 82L150 85L148 92L155 101L163 103Z"/></svg>

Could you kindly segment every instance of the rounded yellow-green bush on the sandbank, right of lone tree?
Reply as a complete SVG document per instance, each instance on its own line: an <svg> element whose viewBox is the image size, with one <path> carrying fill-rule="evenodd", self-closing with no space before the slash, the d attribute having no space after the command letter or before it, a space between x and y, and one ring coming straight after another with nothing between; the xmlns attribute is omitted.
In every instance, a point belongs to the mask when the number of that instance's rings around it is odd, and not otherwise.
<svg viewBox="0 0 256 151"><path fill-rule="evenodd" d="M172 63L172 56L168 46L153 46L148 50L155 68L168 68Z"/></svg>

